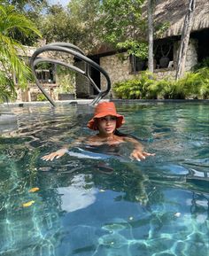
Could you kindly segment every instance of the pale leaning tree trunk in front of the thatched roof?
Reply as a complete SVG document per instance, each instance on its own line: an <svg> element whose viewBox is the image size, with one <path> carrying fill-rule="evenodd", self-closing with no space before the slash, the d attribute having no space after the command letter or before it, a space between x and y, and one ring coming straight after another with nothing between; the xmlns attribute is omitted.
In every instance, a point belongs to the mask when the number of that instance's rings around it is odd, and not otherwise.
<svg viewBox="0 0 209 256"><path fill-rule="evenodd" d="M185 16L182 28L181 44L178 53L175 80L179 80L184 74L187 49L190 41L190 30L193 24L196 0L190 0L189 10Z"/></svg>

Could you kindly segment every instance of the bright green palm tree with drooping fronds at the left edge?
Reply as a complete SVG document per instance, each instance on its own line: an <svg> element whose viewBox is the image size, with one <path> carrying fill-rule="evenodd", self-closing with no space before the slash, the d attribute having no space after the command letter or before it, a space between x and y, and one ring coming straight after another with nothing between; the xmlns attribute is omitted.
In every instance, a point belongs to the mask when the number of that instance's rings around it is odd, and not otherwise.
<svg viewBox="0 0 209 256"><path fill-rule="evenodd" d="M12 5L0 4L0 101L16 97L14 75L20 88L26 87L31 77L30 68L19 58L19 50L24 48L13 37L14 32L41 36L33 22L16 12Z"/></svg>

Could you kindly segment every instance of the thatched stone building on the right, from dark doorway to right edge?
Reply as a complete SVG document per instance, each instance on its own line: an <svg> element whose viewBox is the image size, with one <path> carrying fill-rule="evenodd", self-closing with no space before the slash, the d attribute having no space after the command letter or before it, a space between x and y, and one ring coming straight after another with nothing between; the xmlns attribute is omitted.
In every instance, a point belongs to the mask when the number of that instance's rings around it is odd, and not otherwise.
<svg viewBox="0 0 209 256"><path fill-rule="evenodd" d="M189 0L158 0L156 1L154 20L156 23L168 22L168 29L154 42L154 74L161 79L165 76L174 78L177 53L180 45L185 14L189 8ZM194 22L190 33L185 71L190 71L197 62L209 57L209 1L197 0ZM126 51L117 52L102 46L89 58L95 60L110 75L112 84L133 78L132 59ZM78 65L78 64L77 64ZM79 64L81 65L81 63ZM137 74L146 69L146 61L137 59ZM91 74L99 88L104 89L106 83L97 70L91 68ZM83 84L85 83L85 87ZM89 97L96 92L80 76L76 80L77 91L82 90L82 97ZM85 91L83 89L85 88ZM79 93L78 93L79 96Z"/></svg>

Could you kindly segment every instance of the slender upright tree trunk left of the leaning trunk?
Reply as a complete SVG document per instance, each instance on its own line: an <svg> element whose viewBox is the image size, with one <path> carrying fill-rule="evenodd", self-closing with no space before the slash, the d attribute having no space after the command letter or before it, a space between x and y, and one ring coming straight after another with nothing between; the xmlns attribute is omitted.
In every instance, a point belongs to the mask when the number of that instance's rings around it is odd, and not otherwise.
<svg viewBox="0 0 209 256"><path fill-rule="evenodd" d="M153 58L153 0L148 0L148 69L151 73L154 71L154 58Z"/></svg>

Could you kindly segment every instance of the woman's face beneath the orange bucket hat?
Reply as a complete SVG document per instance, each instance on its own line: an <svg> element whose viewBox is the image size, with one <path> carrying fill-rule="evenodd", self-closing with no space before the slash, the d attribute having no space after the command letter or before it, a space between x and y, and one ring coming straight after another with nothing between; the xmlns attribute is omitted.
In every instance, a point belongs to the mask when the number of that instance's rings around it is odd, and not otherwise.
<svg viewBox="0 0 209 256"><path fill-rule="evenodd" d="M116 117L106 115L97 119L97 128L102 135L111 135L116 128Z"/></svg>

